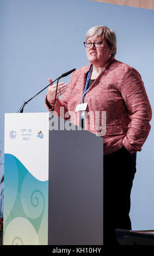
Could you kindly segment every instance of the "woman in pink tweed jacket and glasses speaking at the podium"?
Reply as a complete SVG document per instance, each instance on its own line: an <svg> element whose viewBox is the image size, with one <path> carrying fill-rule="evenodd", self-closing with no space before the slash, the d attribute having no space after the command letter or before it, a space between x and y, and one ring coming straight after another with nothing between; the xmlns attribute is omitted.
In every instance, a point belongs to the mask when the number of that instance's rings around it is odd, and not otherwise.
<svg viewBox="0 0 154 256"><path fill-rule="evenodd" d="M103 137L104 245L118 245L115 229L131 229L130 194L136 156L150 132L151 106L139 72L115 59L116 35L112 29L90 28L84 46L89 65L72 73L69 86L58 84L54 111L60 117L63 107L66 120L69 112L73 124L82 124ZM53 84L46 96L49 110L55 95Z"/></svg>

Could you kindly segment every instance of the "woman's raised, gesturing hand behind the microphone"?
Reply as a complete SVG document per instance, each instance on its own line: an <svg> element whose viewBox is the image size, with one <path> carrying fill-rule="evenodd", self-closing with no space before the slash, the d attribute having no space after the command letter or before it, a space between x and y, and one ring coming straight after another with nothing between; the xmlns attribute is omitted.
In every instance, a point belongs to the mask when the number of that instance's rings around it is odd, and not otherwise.
<svg viewBox="0 0 154 256"><path fill-rule="evenodd" d="M48 82L52 83L52 80L50 78L48 78ZM55 95L56 95L56 87L57 84L51 84L48 87L48 91L47 91L47 101L53 105L54 104L54 99L55 99ZM56 100L58 99L58 97L63 94L65 92L67 88L67 84L64 82L60 82L58 83L58 89L57 89L57 96L56 96Z"/></svg>

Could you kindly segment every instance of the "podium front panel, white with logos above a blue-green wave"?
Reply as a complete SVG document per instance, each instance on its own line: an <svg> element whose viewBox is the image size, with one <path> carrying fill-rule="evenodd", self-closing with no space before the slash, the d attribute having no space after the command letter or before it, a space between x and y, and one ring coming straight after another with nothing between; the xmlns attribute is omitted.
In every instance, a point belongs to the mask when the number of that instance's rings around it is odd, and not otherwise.
<svg viewBox="0 0 154 256"><path fill-rule="evenodd" d="M3 245L48 243L48 113L5 114Z"/></svg>

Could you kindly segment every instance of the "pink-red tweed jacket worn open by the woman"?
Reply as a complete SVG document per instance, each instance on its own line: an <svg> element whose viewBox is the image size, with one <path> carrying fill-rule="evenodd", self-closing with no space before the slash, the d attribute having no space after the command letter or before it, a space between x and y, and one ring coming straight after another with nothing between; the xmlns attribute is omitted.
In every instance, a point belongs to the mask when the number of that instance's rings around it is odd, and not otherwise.
<svg viewBox="0 0 154 256"><path fill-rule="evenodd" d="M80 122L79 112L75 110L81 103L89 69L90 64L73 72L66 92L54 107L59 116L62 106L65 113L69 111L71 122L75 125ZM47 99L45 102L48 110L51 110ZM96 135L99 130L96 127L98 123L100 132L104 132L104 115L101 113L106 113L106 134L102 133L104 155L123 146L130 153L141 150L150 132L152 111L144 83L137 70L114 58L111 59L106 65L106 71L101 72L91 85L84 102L88 103L85 129ZM91 122L91 117L96 119L95 122ZM67 114L65 119L68 120Z"/></svg>

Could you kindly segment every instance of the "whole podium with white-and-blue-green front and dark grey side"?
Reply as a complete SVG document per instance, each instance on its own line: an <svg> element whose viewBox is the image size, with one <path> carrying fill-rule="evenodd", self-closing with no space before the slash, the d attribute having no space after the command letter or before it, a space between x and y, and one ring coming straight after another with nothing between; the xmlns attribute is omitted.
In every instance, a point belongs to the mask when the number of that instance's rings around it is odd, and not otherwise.
<svg viewBox="0 0 154 256"><path fill-rule="evenodd" d="M103 244L103 139L51 113L5 114L3 245Z"/></svg>

